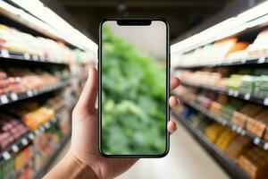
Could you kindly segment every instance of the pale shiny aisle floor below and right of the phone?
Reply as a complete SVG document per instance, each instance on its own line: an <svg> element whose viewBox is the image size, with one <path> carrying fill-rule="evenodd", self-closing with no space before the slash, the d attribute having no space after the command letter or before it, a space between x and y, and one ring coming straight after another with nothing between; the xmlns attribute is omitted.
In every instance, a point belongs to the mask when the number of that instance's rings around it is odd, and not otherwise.
<svg viewBox="0 0 268 179"><path fill-rule="evenodd" d="M171 137L171 150L161 159L142 159L118 179L229 178L190 134L178 124L178 132Z"/></svg>

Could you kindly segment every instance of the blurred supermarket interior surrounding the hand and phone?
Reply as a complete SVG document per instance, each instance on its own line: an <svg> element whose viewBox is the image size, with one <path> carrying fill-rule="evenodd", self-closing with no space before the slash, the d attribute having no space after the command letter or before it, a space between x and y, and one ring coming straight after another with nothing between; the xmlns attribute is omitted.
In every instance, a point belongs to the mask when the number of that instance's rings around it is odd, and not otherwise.
<svg viewBox="0 0 268 179"><path fill-rule="evenodd" d="M169 155L118 178L268 178L261 0L1 0L0 178L40 178L69 148L71 109L96 65L105 17L166 19L182 83L172 91L180 107Z"/></svg>

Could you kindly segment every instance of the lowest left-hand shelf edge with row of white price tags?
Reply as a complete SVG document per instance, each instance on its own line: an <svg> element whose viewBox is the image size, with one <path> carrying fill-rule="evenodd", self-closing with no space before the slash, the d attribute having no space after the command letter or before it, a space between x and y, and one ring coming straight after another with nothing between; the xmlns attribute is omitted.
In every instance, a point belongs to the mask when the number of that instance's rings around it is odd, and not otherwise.
<svg viewBox="0 0 268 179"><path fill-rule="evenodd" d="M9 146L7 149L5 149L2 153L0 153L0 159L8 160L13 156L13 154L20 151L22 148L27 146L31 141L34 141L34 139L48 130L53 124L56 124L59 120L61 120L62 115L68 111L71 107L63 107L54 117L51 118L50 121L46 122L46 124L40 126L38 129L36 129L33 132L27 132L25 133L20 139L15 141L11 146Z"/></svg>

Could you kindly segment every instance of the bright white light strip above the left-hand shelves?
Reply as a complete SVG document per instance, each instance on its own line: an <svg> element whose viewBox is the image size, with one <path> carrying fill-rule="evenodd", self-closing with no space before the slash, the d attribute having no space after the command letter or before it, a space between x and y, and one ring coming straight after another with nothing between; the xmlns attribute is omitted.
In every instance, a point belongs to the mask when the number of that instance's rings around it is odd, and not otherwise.
<svg viewBox="0 0 268 179"><path fill-rule="evenodd" d="M38 8L38 12L46 14L46 17L39 16L38 13L32 12L28 4L20 1L0 1L0 15L3 15L7 21L12 21L16 27L24 27L28 31L32 31L38 36L61 40L69 47L80 48L81 50L92 51L96 53L97 45L91 39L85 37L79 30L73 28L70 24L58 17L54 13L50 13L50 9L38 2L33 5ZM54 24L51 19L57 19L58 24ZM68 33L66 29L68 28Z"/></svg>

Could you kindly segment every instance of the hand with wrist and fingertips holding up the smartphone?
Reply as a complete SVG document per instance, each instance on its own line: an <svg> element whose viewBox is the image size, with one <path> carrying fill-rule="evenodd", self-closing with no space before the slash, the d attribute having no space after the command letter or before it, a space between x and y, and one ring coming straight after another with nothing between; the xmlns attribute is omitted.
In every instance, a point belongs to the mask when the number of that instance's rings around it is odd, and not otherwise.
<svg viewBox="0 0 268 179"><path fill-rule="evenodd" d="M72 112L71 148L64 158L44 177L54 178L113 178L137 162L137 158L104 158L98 151L97 127L97 72L89 69L88 81ZM180 85L172 78L171 90ZM169 99L170 107L178 105L178 99ZM176 124L169 121L169 132L176 131Z"/></svg>

